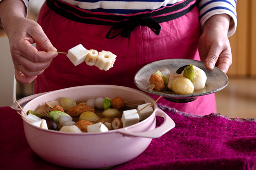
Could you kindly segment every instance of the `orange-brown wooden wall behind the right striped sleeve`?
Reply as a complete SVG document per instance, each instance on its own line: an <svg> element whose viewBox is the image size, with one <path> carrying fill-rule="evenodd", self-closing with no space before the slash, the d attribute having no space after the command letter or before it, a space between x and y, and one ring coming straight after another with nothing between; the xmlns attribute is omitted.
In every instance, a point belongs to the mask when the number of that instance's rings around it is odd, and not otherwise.
<svg viewBox="0 0 256 170"><path fill-rule="evenodd" d="M233 62L229 77L256 77L256 0L238 0L238 26L229 38Z"/></svg>

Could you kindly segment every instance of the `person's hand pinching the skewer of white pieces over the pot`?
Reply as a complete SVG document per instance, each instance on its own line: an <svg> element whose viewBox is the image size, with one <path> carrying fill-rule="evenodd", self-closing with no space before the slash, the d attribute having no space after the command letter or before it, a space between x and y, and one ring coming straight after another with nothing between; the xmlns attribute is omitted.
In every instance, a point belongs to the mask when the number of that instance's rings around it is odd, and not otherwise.
<svg viewBox="0 0 256 170"><path fill-rule="evenodd" d="M58 53L44 34L41 26L24 17L23 2L3 0L0 9L5 10L8 6L11 6L11 4L8 4L4 8L4 5L8 2L15 2L12 6L15 11L9 9L0 12L1 21L9 38L16 81L28 84L49 67L52 59ZM18 4L20 4L19 8L14 8ZM32 43L37 43L43 51L38 51Z"/></svg>

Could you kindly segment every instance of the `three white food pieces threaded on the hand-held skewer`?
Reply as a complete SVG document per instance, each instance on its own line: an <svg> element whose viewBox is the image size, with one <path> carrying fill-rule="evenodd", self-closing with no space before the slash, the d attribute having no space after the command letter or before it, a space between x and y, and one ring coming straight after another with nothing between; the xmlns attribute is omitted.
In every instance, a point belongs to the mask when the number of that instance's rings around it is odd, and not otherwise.
<svg viewBox="0 0 256 170"><path fill-rule="evenodd" d="M68 50L67 57L75 65L81 64L83 61L87 65L95 65L101 70L109 70L114 66L116 61L116 55L110 51L98 52L95 49L86 49L82 44L78 44L75 47Z"/></svg>

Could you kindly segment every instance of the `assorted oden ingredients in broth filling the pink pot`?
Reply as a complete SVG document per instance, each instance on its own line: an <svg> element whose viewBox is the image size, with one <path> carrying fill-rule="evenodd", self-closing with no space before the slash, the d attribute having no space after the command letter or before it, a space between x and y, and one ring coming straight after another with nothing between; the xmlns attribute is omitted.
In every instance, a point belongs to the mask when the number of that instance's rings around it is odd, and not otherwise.
<svg viewBox="0 0 256 170"><path fill-rule="evenodd" d="M58 105L52 106L49 103ZM98 97L80 103L63 97L59 102L49 103L46 105L52 107L50 112L48 108L44 108L47 112L41 109L42 114L29 110L27 117L35 126L62 132L106 132L128 127L143 121L154 111L150 103L127 107L122 97L112 100L108 97Z"/></svg>

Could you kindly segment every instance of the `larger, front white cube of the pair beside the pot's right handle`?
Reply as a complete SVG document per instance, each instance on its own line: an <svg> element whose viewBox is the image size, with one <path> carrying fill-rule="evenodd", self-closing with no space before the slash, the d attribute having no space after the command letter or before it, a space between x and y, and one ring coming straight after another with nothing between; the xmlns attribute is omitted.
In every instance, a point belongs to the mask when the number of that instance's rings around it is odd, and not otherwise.
<svg viewBox="0 0 256 170"><path fill-rule="evenodd" d="M137 110L132 109L124 111L121 120L123 123L123 127L128 127L130 125L138 123L140 121L140 117L137 113Z"/></svg>

